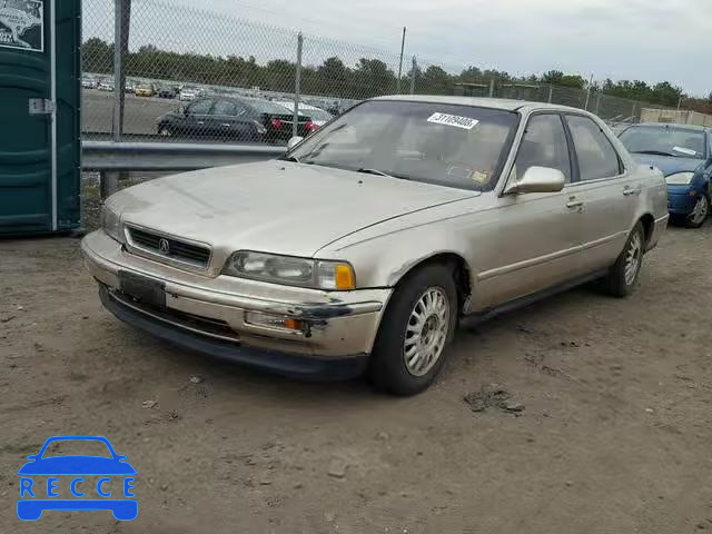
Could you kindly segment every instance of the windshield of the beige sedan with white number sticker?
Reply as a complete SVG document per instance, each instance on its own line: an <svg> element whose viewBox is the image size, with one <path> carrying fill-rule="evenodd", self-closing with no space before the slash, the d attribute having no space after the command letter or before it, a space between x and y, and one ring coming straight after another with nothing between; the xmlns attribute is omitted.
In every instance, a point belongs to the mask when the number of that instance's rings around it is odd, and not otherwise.
<svg viewBox="0 0 712 534"><path fill-rule="evenodd" d="M307 138L288 157L461 189L494 187L518 113L451 103L373 100Z"/></svg>

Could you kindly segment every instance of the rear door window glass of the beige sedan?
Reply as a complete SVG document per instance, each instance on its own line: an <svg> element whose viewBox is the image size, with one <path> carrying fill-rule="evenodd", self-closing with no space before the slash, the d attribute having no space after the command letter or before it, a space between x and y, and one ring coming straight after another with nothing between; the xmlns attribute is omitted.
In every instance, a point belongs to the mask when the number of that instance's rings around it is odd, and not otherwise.
<svg viewBox="0 0 712 534"><path fill-rule="evenodd" d="M578 158L581 180L611 178L621 174L619 156L599 125L587 117L566 117Z"/></svg>

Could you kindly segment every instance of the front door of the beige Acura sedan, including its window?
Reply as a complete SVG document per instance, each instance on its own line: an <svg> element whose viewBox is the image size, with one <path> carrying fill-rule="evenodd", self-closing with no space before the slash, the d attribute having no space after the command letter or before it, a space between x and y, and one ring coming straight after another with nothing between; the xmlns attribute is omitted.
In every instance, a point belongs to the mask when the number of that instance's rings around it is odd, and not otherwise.
<svg viewBox="0 0 712 534"><path fill-rule="evenodd" d="M583 271L581 204L571 188L572 156L562 117L530 117L508 182L530 167L561 170L558 192L502 195L495 200L478 275L477 305L498 306L566 283Z"/></svg>

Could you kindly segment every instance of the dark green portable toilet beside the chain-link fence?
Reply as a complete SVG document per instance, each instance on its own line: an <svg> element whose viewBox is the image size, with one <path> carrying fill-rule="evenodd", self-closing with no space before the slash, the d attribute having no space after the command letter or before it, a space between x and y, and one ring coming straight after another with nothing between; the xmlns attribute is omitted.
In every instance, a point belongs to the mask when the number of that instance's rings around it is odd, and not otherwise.
<svg viewBox="0 0 712 534"><path fill-rule="evenodd" d="M79 228L80 2L0 0L0 236Z"/></svg>

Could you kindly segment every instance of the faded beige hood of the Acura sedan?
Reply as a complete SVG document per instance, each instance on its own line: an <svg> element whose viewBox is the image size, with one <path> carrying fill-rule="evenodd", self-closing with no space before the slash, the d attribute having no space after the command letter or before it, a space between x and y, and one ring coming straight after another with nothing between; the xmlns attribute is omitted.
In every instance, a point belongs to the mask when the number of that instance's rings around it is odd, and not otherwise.
<svg viewBox="0 0 712 534"><path fill-rule="evenodd" d="M125 222L217 249L310 257L380 221L477 195L273 160L147 181L113 195L107 206Z"/></svg>

